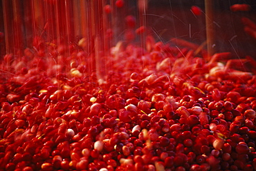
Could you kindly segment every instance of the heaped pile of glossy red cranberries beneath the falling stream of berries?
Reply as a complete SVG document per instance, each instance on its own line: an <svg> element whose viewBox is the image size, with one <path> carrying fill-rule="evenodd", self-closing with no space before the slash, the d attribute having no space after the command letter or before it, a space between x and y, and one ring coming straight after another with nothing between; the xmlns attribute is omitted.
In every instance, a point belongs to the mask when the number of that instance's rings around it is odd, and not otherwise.
<svg viewBox="0 0 256 171"><path fill-rule="evenodd" d="M80 43L41 43L1 62L0 170L256 170L251 63L148 37L99 81Z"/></svg>

